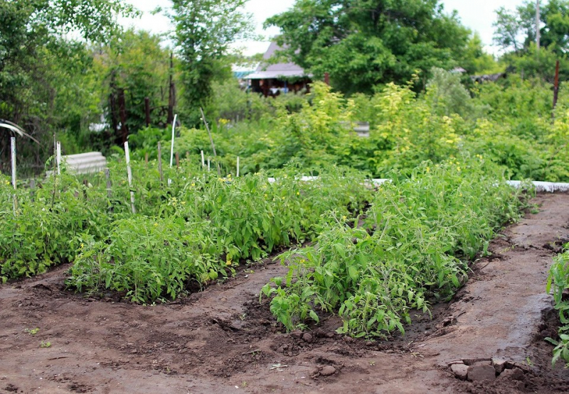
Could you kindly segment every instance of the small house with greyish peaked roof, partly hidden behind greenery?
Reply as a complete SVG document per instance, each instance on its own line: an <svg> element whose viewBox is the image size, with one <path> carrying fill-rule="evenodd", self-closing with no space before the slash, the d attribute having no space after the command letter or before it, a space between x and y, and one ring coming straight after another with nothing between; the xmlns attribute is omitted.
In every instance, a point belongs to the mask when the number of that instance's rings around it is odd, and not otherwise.
<svg viewBox="0 0 569 394"><path fill-rule="evenodd" d="M263 60L272 58L282 48L274 41L263 55ZM261 62L257 70L247 76L252 92L267 96L278 96L288 92L308 92L312 75L304 72L302 67L292 62L271 64Z"/></svg>

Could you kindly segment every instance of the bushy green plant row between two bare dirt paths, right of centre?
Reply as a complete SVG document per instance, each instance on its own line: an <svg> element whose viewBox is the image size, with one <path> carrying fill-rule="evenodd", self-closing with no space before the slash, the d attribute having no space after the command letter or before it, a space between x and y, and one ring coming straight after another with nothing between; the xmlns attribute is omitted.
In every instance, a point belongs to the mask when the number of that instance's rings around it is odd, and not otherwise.
<svg viewBox="0 0 569 394"><path fill-rule="evenodd" d="M331 214L314 246L289 251L285 278L262 288L287 329L318 312L337 312L339 333L383 336L404 332L410 310L448 299L467 278L466 261L487 247L494 230L520 216L523 199L494 165L425 162L393 174L366 212L362 227Z"/></svg>

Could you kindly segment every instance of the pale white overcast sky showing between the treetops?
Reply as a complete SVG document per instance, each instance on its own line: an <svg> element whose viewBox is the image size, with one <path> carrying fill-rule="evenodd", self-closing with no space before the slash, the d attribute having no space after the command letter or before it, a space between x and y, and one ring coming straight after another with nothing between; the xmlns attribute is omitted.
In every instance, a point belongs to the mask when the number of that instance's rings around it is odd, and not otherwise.
<svg viewBox="0 0 569 394"><path fill-rule="evenodd" d="M164 6L169 4L164 0L127 0L134 4L138 9L144 12L142 18L138 20L124 20L125 26L134 26L149 30L152 33L165 33L171 30L168 18L162 15L150 14L150 11L156 9L156 6ZM472 31L477 31L482 37L486 50L490 53L496 53L497 48L491 46L494 28L492 23L496 19L496 9L505 6L508 9L514 9L523 3L523 0L443 0L445 10L450 13L457 10L458 15L464 26ZM246 11L252 13L255 23L257 24L257 33L271 37L279 33L277 28L270 28L267 31L262 30L262 23L265 19L276 13L287 11L294 4L294 0L249 0L245 6ZM240 43L247 55L265 52L268 43Z"/></svg>

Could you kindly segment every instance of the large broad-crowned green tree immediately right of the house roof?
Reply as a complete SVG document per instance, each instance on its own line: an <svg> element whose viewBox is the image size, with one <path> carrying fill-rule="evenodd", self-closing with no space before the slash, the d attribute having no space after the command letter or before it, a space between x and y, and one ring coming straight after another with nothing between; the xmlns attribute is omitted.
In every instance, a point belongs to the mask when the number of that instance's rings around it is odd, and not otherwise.
<svg viewBox="0 0 569 394"><path fill-rule="evenodd" d="M297 0L265 26L281 29L288 58L348 94L455 67L470 34L438 0Z"/></svg>

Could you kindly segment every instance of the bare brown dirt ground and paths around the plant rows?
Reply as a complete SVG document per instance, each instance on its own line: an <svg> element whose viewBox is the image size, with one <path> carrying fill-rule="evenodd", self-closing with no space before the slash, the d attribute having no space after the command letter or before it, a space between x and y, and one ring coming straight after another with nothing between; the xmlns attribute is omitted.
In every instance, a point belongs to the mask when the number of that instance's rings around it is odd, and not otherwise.
<svg viewBox="0 0 569 394"><path fill-rule="evenodd" d="M272 261L146 307L64 290L65 266L2 285L0 393L568 393L569 371L551 368L543 337L558 324L544 288L568 241L569 195L535 202L539 212L491 243L452 302L435 305L432 319L415 314L389 341L340 336L333 316L285 334L258 302L262 285L286 272ZM471 383L450 372L453 361L496 356L521 376Z"/></svg>

